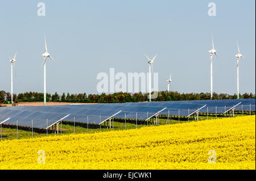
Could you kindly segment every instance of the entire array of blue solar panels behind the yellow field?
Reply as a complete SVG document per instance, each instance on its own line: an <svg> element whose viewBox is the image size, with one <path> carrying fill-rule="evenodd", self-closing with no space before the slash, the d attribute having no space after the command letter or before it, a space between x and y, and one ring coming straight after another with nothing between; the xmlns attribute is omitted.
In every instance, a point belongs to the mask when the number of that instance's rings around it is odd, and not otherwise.
<svg viewBox="0 0 256 181"><path fill-rule="evenodd" d="M0 124L47 128L60 120L101 124L111 117L147 120L161 115L189 116L195 112L225 113L231 109L255 111L255 99L191 100L114 104L69 104L63 106L20 106L0 108ZM46 121L47 120L47 121Z"/></svg>

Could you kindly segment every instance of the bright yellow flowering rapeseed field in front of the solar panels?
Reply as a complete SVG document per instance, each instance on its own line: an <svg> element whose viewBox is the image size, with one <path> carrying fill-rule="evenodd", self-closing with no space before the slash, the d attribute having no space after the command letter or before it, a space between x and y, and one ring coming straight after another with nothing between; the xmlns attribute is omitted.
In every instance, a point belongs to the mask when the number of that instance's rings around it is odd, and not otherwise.
<svg viewBox="0 0 256 181"><path fill-rule="evenodd" d="M1 141L0 169L255 169L255 115Z"/></svg>

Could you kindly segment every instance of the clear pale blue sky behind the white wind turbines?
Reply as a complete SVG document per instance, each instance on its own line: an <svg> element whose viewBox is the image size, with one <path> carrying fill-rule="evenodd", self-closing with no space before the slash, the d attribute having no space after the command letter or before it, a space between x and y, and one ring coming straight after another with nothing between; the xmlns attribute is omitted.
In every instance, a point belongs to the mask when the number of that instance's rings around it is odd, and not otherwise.
<svg viewBox="0 0 256 181"><path fill-rule="evenodd" d="M46 3L46 16L37 4ZM208 16L208 3L216 16ZM10 91L10 62L16 58L14 92L43 92L43 35L56 64L47 61L47 92L97 93L100 72L146 72L144 53L159 56L159 90L209 92L210 33L213 91L236 93L237 38L240 90L255 93L255 1L13 1L0 2L0 90Z"/></svg>

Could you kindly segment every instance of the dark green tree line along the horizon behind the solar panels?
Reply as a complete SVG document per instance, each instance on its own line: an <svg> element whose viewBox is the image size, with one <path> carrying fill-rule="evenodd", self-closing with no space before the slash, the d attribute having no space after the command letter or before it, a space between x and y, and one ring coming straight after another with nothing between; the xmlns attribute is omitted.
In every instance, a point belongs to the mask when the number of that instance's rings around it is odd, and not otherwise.
<svg viewBox="0 0 256 181"><path fill-rule="evenodd" d="M116 92L113 94L46 94L46 100L52 102L70 102L70 103L125 103L125 102L145 102L147 101L148 94L139 93L127 93L127 92ZM216 94L213 93L213 99L236 99L237 95L229 94ZM255 99L255 94L242 94L241 99ZM42 102L44 95L42 92L24 92L18 95L14 94L13 99L16 103L18 102ZM167 100L209 100L210 93L179 93L179 92L158 92L158 97L153 101L167 101ZM7 103L11 101L10 92L0 91L0 103Z"/></svg>

